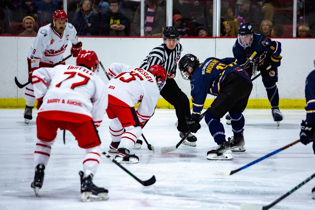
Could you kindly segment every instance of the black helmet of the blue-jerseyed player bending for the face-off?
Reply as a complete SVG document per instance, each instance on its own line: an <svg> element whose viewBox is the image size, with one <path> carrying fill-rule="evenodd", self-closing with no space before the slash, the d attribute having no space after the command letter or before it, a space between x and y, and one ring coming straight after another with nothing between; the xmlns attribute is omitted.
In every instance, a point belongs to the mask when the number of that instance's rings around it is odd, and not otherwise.
<svg viewBox="0 0 315 210"><path fill-rule="evenodd" d="M193 72L198 65L199 60L196 56L194 56L193 54L184 55L178 63L178 68L180 70L181 76L186 80L190 80L192 78ZM186 74L186 72L188 72L188 66L192 67L193 70L191 73Z"/></svg>

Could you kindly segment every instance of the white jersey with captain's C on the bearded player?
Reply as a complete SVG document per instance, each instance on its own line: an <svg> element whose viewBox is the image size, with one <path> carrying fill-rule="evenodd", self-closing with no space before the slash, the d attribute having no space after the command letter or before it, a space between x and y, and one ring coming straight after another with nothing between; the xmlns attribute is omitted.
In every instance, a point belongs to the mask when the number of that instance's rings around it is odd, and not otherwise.
<svg viewBox="0 0 315 210"><path fill-rule="evenodd" d="M40 27L33 41L27 59L31 60L31 68L38 67L39 62L56 64L63 59L69 41L78 43L77 31L71 23L67 23L60 34L50 27L51 24Z"/></svg>

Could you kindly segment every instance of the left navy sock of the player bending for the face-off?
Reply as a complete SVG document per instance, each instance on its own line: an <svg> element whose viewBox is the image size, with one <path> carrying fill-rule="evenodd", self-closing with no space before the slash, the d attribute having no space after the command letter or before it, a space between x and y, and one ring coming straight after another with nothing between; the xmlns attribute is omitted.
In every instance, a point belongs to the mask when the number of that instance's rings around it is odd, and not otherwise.
<svg viewBox="0 0 315 210"><path fill-rule="evenodd" d="M214 116L212 113L207 112L204 116L204 120L206 121L209 131L213 138L215 139L215 142L218 145L221 145L223 142L225 142L225 134L224 134L224 127L223 124L220 122L220 118Z"/></svg>

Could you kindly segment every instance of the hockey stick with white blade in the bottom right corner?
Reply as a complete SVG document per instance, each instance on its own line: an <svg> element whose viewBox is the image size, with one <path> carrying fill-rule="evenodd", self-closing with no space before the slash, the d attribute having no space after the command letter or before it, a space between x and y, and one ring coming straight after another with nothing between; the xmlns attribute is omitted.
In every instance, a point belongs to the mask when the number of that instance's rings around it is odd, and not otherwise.
<svg viewBox="0 0 315 210"><path fill-rule="evenodd" d="M257 206L257 205L250 204L250 203L241 203L241 209L243 209L243 210L267 210L267 209L273 207L274 205L276 205L279 201L284 199L286 196L288 196L291 193L295 192L295 190L299 189L302 185L306 184L306 182L308 182L309 180L313 179L314 177L315 177L315 173L313 173L310 177L307 177L303 182L301 182L300 184L296 185L293 189L291 189L290 191L285 193L283 196L281 196L280 198L278 198L277 200L273 201L271 204L269 204L267 206Z"/></svg>

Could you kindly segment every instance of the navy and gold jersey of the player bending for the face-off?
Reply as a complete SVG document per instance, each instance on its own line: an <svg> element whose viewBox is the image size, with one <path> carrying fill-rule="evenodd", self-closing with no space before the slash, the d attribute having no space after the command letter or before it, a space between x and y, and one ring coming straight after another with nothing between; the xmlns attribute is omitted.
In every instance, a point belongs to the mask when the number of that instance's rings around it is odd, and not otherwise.
<svg viewBox="0 0 315 210"><path fill-rule="evenodd" d="M190 86L192 95L192 114L198 118L202 111L207 94L218 96L225 76L235 72L252 83L247 71L235 62L235 58L208 58L193 72ZM244 81L245 82L245 81Z"/></svg>

